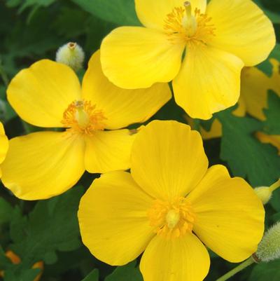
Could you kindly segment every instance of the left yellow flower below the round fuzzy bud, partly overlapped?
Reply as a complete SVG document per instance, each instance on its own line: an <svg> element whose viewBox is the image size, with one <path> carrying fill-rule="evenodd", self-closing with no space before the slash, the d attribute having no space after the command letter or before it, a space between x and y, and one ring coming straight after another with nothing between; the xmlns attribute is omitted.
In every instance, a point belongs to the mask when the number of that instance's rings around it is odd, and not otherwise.
<svg viewBox="0 0 280 281"><path fill-rule="evenodd" d="M7 95L28 123L67 128L10 140L2 181L25 200L63 193L85 170L127 170L134 135L120 128L146 121L171 98L167 83L143 90L117 88L102 73L99 52L92 55L81 88L70 67L40 60L13 78Z"/></svg>

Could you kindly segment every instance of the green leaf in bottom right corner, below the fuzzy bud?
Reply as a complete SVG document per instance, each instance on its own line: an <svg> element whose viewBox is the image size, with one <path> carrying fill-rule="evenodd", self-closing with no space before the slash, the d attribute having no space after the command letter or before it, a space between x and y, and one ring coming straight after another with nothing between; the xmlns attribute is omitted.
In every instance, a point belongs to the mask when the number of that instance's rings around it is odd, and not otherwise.
<svg viewBox="0 0 280 281"><path fill-rule="evenodd" d="M279 281L280 280L280 260L269 263L260 263L254 266L249 281Z"/></svg>

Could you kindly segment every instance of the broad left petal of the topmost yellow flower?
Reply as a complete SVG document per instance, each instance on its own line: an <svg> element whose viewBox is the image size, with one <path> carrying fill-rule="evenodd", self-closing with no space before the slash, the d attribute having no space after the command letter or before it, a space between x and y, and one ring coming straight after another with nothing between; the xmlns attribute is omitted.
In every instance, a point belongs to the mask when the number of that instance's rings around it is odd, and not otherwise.
<svg viewBox="0 0 280 281"><path fill-rule="evenodd" d="M148 88L172 81L181 67L184 47L155 29L119 27L102 41L102 69L120 88Z"/></svg>

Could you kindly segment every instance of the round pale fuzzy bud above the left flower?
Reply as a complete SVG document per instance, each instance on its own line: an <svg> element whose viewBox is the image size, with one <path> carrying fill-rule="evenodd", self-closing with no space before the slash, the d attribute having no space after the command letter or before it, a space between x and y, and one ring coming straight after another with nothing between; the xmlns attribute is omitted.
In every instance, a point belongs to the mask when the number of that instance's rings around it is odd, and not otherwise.
<svg viewBox="0 0 280 281"><path fill-rule="evenodd" d="M77 43L69 42L57 50L56 61L68 65L74 71L83 67L85 53Z"/></svg>

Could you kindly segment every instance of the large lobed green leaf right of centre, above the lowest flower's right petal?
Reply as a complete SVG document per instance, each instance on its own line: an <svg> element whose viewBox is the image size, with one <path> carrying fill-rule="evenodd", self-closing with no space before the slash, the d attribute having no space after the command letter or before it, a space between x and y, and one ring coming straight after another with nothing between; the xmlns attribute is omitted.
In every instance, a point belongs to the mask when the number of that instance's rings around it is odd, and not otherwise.
<svg viewBox="0 0 280 281"><path fill-rule="evenodd" d="M217 114L223 125L221 159L228 162L235 176L248 178L253 186L269 186L279 178L280 157L276 148L262 144L253 133L262 123L253 118L233 116L231 111Z"/></svg>

